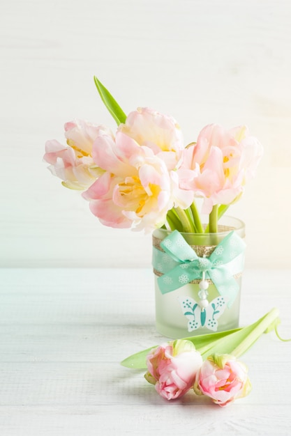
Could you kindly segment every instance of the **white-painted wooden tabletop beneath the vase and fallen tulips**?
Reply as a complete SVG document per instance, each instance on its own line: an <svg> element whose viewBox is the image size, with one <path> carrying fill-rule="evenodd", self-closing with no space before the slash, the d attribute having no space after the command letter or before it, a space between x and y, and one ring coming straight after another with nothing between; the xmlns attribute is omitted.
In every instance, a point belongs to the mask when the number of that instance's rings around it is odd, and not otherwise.
<svg viewBox="0 0 291 436"><path fill-rule="evenodd" d="M288 270L247 270L241 325L272 307L291 336ZM120 366L162 343L149 269L0 270L0 434L290 435L291 343L264 335L242 358L251 394L221 408L188 393L167 402Z"/></svg>

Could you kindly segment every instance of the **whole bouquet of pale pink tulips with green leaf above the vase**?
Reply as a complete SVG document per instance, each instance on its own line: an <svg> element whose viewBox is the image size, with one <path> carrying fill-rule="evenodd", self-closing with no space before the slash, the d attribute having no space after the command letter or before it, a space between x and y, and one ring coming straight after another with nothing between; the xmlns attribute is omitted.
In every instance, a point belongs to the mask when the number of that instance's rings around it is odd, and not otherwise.
<svg viewBox="0 0 291 436"><path fill-rule="evenodd" d="M44 159L70 189L83 191L105 226L215 233L218 219L244 192L262 156L246 126L207 125L185 145L172 116L139 108L126 116L95 77L117 132L84 120L65 124L67 146L47 141ZM203 199L202 227L195 200Z"/></svg>

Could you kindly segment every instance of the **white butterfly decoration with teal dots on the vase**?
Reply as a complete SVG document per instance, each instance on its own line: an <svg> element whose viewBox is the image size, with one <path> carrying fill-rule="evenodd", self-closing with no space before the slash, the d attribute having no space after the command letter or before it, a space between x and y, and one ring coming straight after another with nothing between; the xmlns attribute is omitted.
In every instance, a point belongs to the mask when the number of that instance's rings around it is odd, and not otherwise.
<svg viewBox="0 0 291 436"><path fill-rule="evenodd" d="M226 307L223 297L216 297L209 303L207 299L202 299L197 303L191 297L179 297L179 300L182 311L186 318L188 318L188 332L193 332L193 330L200 327L206 327L216 332L218 318L221 317Z"/></svg>

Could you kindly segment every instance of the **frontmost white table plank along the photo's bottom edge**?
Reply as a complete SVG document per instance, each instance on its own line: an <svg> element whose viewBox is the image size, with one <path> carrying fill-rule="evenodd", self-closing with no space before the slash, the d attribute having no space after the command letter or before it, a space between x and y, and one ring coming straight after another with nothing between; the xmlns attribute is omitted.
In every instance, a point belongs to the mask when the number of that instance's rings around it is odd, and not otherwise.
<svg viewBox="0 0 291 436"><path fill-rule="evenodd" d="M290 435L289 405L271 409L241 403L225 409L177 403L145 407L138 401L134 407L118 401L100 407L81 403L74 407L0 407L0 425L5 436Z"/></svg>

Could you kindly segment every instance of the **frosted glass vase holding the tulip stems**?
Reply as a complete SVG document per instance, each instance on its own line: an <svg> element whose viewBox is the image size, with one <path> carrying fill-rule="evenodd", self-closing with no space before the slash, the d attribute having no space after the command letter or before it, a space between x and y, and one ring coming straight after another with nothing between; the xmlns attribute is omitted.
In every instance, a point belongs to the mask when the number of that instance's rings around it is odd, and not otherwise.
<svg viewBox="0 0 291 436"><path fill-rule="evenodd" d="M223 217L219 222L218 233L180 233L200 259L211 258L210 256L214 253L214 250L220 253L222 250L221 242L223 243L227 235L230 236L232 231L239 236L240 240L243 240L245 226L242 221L233 217ZM231 274L232 283L221 283L222 286L218 286L218 290L214 281L209 278L209 274L206 273L205 277L205 275L202 276L203 273L201 272L201 277L197 277L189 283L168 292L165 289L165 283L170 281L170 278L161 273L161 268L163 271L161 261L165 258L166 263L173 262L173 267L177 266L177 262L165 254L161 242L170 234L170 231L163 229L156 229L153 233L157 331L169 338L185 338L239 327L244 250L234 260L225 265L227 274ZM232 249L230 245L228 250L231 256L235 254L235 247ZM172 266L168 266L168 269L171 270ZM187 263L179 265L181 268L187 268L188 266L190 267ZM184 277L186 277L186 274L181 274L179 279L183 281ZM162 280L163 292L161 291ZM201 282L203 283L201 284ZM232 292L232 288L235 288L235 291ZM227 297L225 297L225 293ZM230 296L231 298L229 298Z"/></svg>

